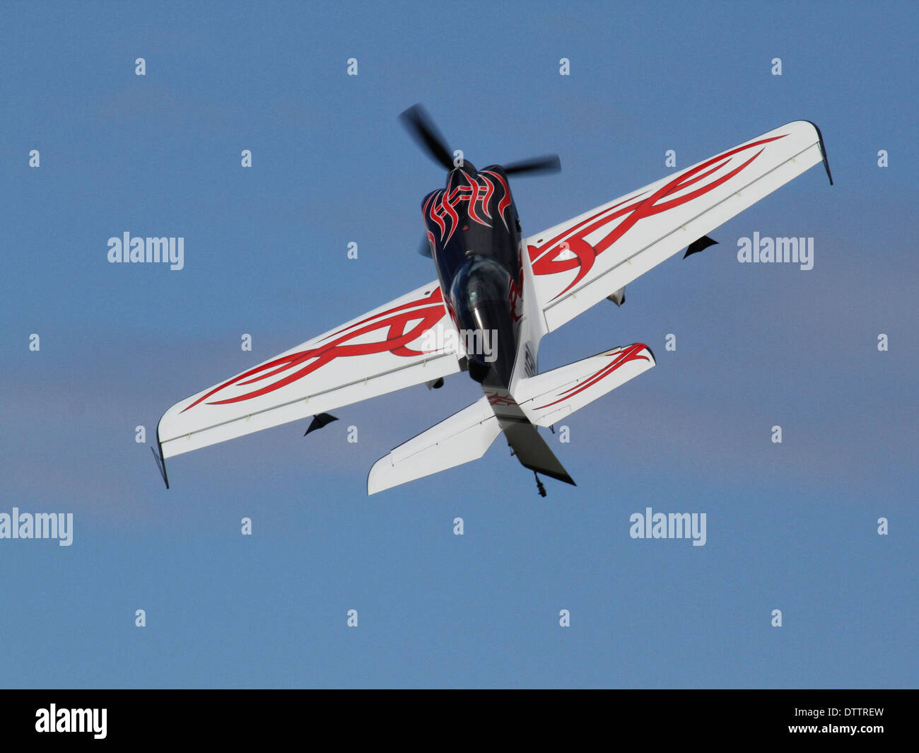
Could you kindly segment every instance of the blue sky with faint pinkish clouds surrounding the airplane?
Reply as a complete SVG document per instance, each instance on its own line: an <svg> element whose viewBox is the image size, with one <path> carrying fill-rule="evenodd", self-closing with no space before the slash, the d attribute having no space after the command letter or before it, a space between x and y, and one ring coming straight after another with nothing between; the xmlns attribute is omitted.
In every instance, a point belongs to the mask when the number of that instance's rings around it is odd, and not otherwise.
<svg viewBox="0 0 919 753"><path fill-rule="evenodd" d="M6 3L0 27L0 512L74 513L70 547L0 540L0 685L915 687L914 4ZM498 441L366 496L481 394L458 375L177 457L166 491L136 426L434 279L418 101L477 165L560 154L512 185L526 234L790 120L836 185L811 169L543 341L543 370L658 360L547 435L576 488L540 498ZM183 236L185 268L108 264L125 231ZM754 232L813 237L814 268L739 264ZM646 507L705 512L706 545L630 539Z"/></svg>

